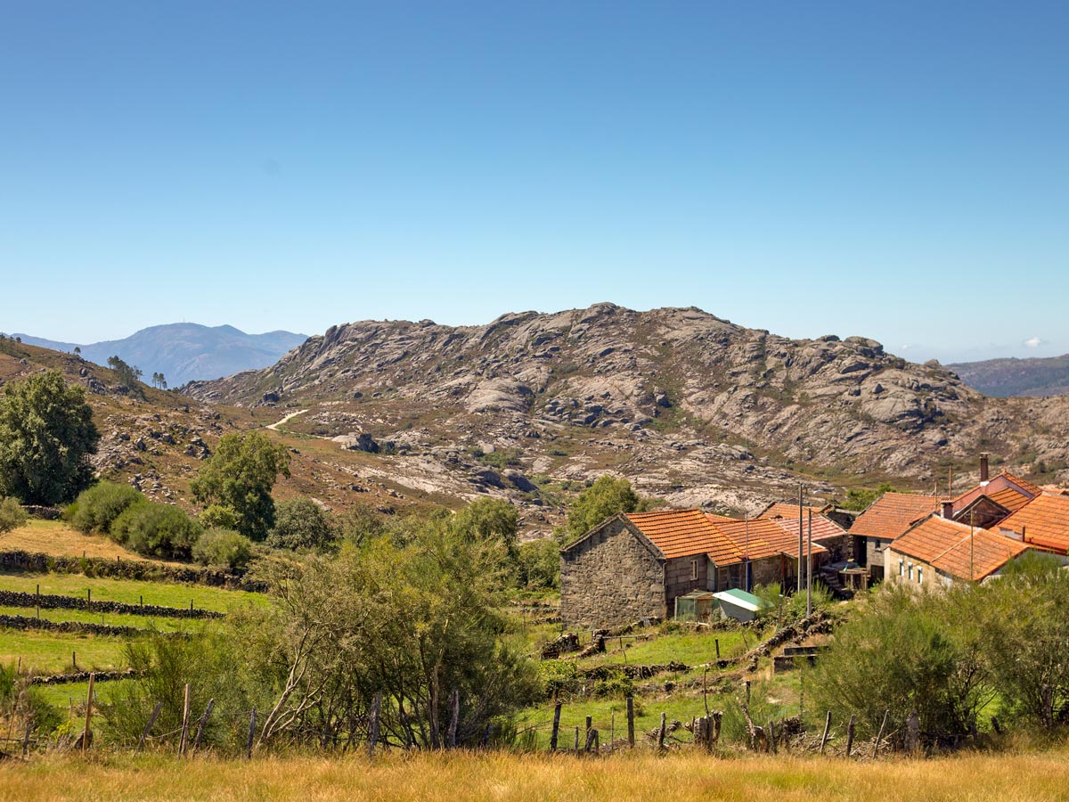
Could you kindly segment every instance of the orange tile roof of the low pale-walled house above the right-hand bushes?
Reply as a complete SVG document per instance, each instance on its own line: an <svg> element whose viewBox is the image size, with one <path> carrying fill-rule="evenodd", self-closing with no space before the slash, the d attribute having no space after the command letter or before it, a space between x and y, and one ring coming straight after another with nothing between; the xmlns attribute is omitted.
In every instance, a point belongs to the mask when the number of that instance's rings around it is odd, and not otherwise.
<svg viewBox="0 0 1069 802"><path fill-rule="evenodd" d="M890 547L951 576L982 580L1028 546L1012 538L932 515L897 538Z"/></svg>

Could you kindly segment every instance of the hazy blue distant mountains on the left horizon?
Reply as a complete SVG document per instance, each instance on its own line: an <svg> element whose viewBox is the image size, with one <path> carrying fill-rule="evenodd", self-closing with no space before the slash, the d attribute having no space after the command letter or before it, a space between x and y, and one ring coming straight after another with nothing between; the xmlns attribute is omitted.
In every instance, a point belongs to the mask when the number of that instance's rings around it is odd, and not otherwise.
<svg viewBox="0 0 1069 802"><path fill-rule="evenodd" d="M151 326L123 340L88 344L57 342L42 337L16 335L30 345L72 352L81 349L81 357L106 365L111 356L137 366L149 383L153 373L162 373L171 387L195 380L220 379L243 370L266 368L286 352L308 339L291 331L248 335L233 326L202 326L197 323L170 323Z"/></svg>

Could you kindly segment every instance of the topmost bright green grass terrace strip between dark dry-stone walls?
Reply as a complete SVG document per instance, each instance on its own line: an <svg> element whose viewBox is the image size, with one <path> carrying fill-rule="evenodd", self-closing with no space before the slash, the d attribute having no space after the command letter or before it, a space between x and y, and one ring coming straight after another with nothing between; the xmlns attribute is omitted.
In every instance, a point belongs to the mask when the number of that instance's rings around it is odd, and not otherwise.
<svg viewBox="0 0 1069 802"><path fill-rule="evenodd" d="M0 574L0 588L4 590L20 590L25 593L32 593L38 584L42 593L78 596L84 599L86 590L91 589L93 601L137 604L138 600L143 597L145 604L158 604L165 607L188 607L189 602L192 601L195 607L215 610L220 613L226 613L239 604L268 603L267 597L263 593L226 590L203 585L94 579L76 573Z"/></svg>

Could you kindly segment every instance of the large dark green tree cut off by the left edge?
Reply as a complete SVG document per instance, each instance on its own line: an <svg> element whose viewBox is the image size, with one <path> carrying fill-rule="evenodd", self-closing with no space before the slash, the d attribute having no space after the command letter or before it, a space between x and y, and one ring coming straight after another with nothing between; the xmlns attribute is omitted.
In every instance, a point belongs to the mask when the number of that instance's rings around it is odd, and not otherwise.
<svg viewBox="0 0 1069 802"><path fill-rule="evenodd" d="M0 495L69 502L93 480L99 439L84 391L59 371L12 382L0 397Z"/></svg>

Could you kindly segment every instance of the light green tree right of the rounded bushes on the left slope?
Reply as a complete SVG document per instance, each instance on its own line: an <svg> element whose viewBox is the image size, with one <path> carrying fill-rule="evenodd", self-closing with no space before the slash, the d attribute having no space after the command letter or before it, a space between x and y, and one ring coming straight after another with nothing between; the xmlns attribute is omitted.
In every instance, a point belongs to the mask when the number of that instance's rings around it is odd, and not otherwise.
<svg viewBox="0 0 1069 802"><path fill-rule="evenodd" d="M224 434L216 451L190 483L201 505L233 510L235 528L252 540L263 540L275 525L270 491L278 475L290 475L290 452L263 432Z"/></svg>

